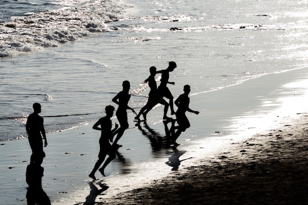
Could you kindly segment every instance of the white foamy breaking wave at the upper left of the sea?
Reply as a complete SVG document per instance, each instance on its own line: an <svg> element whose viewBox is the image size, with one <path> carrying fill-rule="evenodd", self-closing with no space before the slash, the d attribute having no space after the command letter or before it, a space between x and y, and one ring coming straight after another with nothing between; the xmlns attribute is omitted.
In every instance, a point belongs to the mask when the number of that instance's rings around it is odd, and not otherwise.
<svg viewBox="0 0 308 205"><path fill-rule="evenodd" d="M108 31L105 23L115 21L127 7L111 0L76 2L0 23L0 57L39 52Z"/></svg>

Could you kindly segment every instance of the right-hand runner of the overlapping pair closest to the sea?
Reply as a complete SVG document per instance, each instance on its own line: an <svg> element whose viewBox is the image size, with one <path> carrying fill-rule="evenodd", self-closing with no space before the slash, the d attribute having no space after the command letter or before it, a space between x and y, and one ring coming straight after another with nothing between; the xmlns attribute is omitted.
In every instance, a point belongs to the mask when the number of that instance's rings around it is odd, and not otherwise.
<svg viewBox="0 0 308 205"><path fill-rule="evenodd" d="M171 115L174 115L174 109L173 109L173 95L171 94L169 88L167 87L167 84L174 85L174 82L169 82L169 72L174 71L174 69L177 67L177 64L173 61L169 62L169 66L165 70L157 71L157 73L161 73L161 79L160 79L160 85L157 88L158 93L160 93L161 98L166 97L169 99L169 106L171 110ZM167 117L167 109L164 110L164 116L163 119L170 119L170 117Z"/></svg>

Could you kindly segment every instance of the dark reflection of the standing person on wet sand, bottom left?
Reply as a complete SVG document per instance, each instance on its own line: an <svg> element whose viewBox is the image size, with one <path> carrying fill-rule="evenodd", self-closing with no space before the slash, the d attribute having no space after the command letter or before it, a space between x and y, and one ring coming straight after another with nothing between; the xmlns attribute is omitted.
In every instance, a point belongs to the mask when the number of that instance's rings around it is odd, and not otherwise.
<svg viewBox="0 0 308 205"><path fill-rule="evenodd" d="M27 191L28 205L51 205L49 197L42 188L44 168L41 167L45 153L41 151L33 156L33 162L27 166L26 181L29 185Z"/></svg>

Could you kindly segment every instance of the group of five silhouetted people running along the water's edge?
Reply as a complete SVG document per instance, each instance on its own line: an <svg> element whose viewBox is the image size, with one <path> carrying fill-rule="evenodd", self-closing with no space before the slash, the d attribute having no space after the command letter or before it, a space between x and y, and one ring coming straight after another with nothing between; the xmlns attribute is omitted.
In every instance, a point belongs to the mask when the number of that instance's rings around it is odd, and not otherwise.
<svg viewBox="0 0 308 205"><path fill-rule="evenodd" d="M184 86L184 93L181 94L175 101L175 105L178 107L178 110L174 111L173 106L173 95L171 94L167 84L174 85L174 82L169 82L169 73L174 71L177 67L177 64L173 61L169 62L169 66L165 70L156 71L156 67L150 67L150 76L147 78L144 83L148 83L150 87L149 99L146 105L141 108L139 114L137 115L134 109L128 106L128 101L130 99L129 89L130 83L128 81L123 81L123 90L120 91L113 99L112 102L119 105L116 116L120 123L119 125L116 123L115 128L112 129L112 121L111 117L113 116L115 108L111 105L106 106L105 112L106 116L100 118L94 125L93 129L101 130L101 135L99 138L99 154L98 161L95 163L92 172L90 173L90 177L93 180L96 180L95 172L98 170L103 176L105 176L104 170L106 166L116 157L115 151L117 148L122 145L118 144L118 141L123 136L124 131L128 128L128 119L127 119L127 110L131 110L137 116L135 117L136 121L140 121L140 116L142 115L144 120L147 120L147 114L154 108L157 104L164 105L164 120L172 120L171 117L167 116L168 109L170 107L171 115L176 115L176 120L178 122L177 131L173 136L171 136L171 146L178 146L176 140L181 135L182 132L190 127L190 123L188 118L186 117L186 111L199 114L198 111L193 111L189 108L189 97L188 94L190 92L190 86ZM157 87L155 81L155 75L157 73L161 73L160 85ZM169 103L164 100L164 97L169 99ZM117 135L115 141L113 141L114 136ZM113 143L112 145L110 143ZM106 156L108 158L104 162ZM104 162L103 166L101 164Z"/></svg>

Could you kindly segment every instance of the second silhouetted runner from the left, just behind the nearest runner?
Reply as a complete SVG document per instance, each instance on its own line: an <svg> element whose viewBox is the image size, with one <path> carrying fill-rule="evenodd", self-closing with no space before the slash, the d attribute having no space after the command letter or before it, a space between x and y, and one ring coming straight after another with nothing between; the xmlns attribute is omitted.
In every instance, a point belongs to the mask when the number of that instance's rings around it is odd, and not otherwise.
<svg viewBox="0 0 308 205"><path fill-rule="evenodd" d="M135 111L131 107L128 106L128 101L130 99L129 89L130 84L128 81L123 81L123 90L120 91L113 99L112 102L119 105L118 110L116 112L116 116L118 118L118 121L120 123L120 128L118 129L116 140L113 143L114 147L119 148L121 145L118 145L118 141L123 136L124 131L128 128L128 120L127 120L127 112L126 110L131 110L134 114ZM137 114L136 114L137 115ZM113 139L111 140L111 142Z"/></svg>

